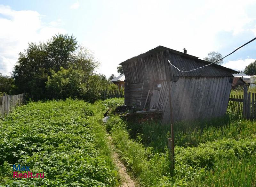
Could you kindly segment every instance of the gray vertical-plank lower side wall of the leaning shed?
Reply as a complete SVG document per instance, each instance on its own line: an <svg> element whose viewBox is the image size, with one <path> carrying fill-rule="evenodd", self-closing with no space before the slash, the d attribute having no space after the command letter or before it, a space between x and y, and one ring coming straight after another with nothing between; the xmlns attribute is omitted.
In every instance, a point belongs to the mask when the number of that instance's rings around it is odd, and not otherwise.
<svg viewBox="0 0 256 187"><path fill-rule="evenodd" d="M158 109L163 110L162 123L169 123L166 81L164 86L159 96ZM231 86L229 77L182 77L177 82L171 82L174 121L223 116L228 107Z"/></svg>

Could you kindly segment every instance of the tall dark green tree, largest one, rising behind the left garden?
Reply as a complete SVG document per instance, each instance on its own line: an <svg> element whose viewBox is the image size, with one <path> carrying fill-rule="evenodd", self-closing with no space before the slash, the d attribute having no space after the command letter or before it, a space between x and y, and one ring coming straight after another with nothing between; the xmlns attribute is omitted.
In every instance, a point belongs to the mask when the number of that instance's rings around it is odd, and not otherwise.
<svg viewBox="0 0 256 187"><path fill-rule="evenodd" d="M68 68L76 50L76 39L71 35L55 35L46 43L29 43L28 49L19 53L17 65L12 76L17 92L45 94L45 82L51 71L59 71L60 67Z"/></svg>

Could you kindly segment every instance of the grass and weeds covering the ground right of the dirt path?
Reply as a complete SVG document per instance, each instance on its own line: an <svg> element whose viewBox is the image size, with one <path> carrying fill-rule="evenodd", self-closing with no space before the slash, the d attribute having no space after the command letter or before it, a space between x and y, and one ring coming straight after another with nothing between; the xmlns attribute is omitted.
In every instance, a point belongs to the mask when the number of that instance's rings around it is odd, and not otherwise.
<svg viewBox="0 0 256 187"><path fill-rule="evenodd" d="M170 175L167 138L158 123L107 123L116 148L141 186L255 186L256 123L230 117L176 123L175 176Z"/></svg>

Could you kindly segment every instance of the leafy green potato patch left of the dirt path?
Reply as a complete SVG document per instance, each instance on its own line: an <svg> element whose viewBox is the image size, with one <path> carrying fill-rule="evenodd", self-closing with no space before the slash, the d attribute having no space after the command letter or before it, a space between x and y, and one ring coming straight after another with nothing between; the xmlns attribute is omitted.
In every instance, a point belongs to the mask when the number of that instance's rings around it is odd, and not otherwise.
<svg viewBox="0 0 256 187"><path fill-rule="evenodd" d="M31 102L0 121L0 186L116 186L105 107L84 101ZM12 165L42 178L12 177Z"/></svg>

